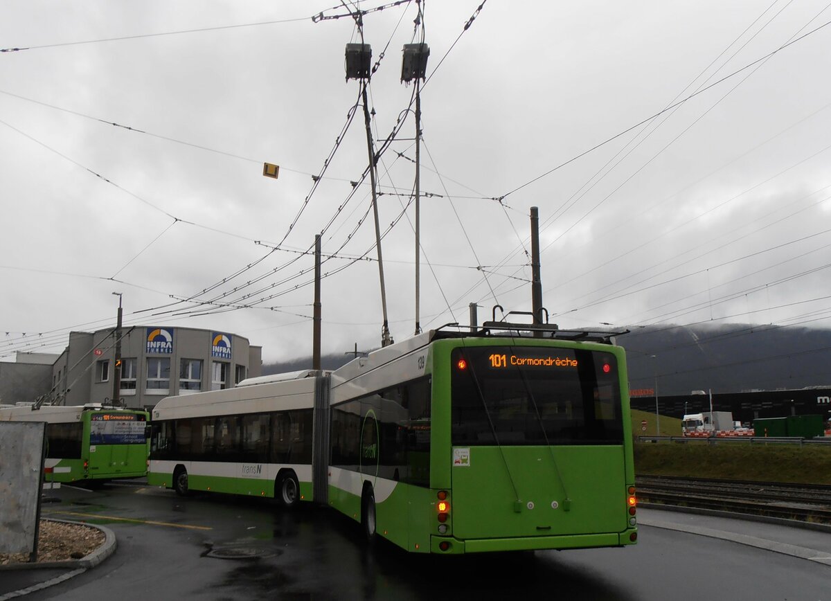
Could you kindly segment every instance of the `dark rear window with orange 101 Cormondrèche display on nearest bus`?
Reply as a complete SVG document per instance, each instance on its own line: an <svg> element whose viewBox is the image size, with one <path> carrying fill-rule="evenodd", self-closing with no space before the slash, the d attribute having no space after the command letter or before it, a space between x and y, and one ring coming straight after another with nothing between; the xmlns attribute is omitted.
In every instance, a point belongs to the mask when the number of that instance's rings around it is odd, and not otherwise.
<svg viewBox="0 0 831 601"><path fill-rule="evenodd" d="M610 352L463 347L451 354L455 446L619 445L620 374Z"/></svg>

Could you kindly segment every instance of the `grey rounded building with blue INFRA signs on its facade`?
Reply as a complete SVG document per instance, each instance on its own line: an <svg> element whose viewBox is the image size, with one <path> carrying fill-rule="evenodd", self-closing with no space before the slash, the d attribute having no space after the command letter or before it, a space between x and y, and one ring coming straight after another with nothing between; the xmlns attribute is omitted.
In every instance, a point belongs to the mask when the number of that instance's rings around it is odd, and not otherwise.
<svg viewBox="0 0 831 601"><path fill-rule="evenodd" d="M114 370L120 369L119 401L150 409L164 397L234 387L261 375L262 347L236 334L152 325L125 327L121 333L118 367L112 328L70 333L69 346L52 363L46 389L16 400L51 393L61 405L108 402Z"/></svg>

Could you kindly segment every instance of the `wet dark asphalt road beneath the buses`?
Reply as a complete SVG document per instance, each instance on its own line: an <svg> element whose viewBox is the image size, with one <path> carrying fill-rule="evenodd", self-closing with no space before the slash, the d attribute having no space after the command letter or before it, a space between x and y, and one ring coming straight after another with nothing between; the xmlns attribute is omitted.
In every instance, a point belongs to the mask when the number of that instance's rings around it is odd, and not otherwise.
<svg viewBox="0 0 831 601"><path fill-rule="evenodd" d="M639 544L469 557L367 549L352 520L265 500L170 490L62 488L43 514L106 525L118 549L27 596L164 599L829 599L831 567L725 540L642 526ZM640 512L639 512L640 513ZM134 520L134 521L125 521ZM706 520L706 518L702 518Z"/></svg>

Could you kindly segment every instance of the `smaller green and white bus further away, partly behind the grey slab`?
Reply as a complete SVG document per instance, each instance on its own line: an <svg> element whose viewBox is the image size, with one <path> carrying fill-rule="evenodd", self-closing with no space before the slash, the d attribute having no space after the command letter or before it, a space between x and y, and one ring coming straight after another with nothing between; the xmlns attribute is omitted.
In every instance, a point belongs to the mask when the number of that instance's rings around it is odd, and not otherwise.
<svg viewBox="0 0 831 601"><path fill-rule="evenodd" d="M102 482L147 474L147 411L90 404L0 409L0 421L45 421L47 482Z"/></svg>

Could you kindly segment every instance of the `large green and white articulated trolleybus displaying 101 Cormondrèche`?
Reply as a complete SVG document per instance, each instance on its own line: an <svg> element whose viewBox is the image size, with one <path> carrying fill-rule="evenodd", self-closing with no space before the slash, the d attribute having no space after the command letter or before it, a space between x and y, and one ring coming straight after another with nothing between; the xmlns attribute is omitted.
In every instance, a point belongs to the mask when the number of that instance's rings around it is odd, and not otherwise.
<svg viewBox="0 0 831 601"><path fill-rule="evenodd" d="M148 481L330 505L417 553L634 544L627 391L609 333L445 327L333 372L165 398Z"/></svg>

